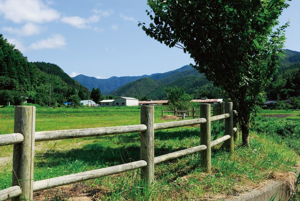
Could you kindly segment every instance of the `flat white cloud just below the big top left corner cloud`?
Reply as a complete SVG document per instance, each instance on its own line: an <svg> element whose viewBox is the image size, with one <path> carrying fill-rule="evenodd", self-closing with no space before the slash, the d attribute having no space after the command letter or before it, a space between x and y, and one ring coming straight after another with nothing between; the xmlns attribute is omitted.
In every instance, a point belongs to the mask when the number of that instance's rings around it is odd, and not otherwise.
<svg viewBox="0 0 300 201"><path fill-rule="evenodd" d="M3 27L2 30L19 36L32 36L40 34L44 29L32 22L29 22L21 28Z"/></svg>

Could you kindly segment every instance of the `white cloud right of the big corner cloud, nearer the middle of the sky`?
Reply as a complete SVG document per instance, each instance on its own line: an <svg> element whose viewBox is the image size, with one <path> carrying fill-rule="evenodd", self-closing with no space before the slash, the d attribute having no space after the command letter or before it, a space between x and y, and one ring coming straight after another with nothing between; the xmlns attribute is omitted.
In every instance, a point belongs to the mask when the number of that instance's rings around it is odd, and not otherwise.
<svg viewBox="0 0 300 201"><path fill-rule="evenodd" d="M80 28L80 29L85 29L89 28L88 24L96 23L100 19L99 16L93 15L90 16L89 18L85 19L79 16L73 16L73 17L63 17L61 19L62 22L70 24L71 26Z"/></svg>

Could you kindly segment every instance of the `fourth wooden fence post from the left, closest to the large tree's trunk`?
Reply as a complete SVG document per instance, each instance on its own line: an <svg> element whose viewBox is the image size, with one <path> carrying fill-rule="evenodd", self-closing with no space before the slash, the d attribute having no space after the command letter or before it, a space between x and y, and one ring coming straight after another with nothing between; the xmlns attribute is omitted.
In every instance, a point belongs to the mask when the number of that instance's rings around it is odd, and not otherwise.
<svg viewBox="0 0 300 201"><path fill-rule="evenodd" d="M227 152L233 152L233 110L232 102L226 102L225 104L225 113L229 113L230 117L225 119L225 135L230 135L231 138L225 141L225 148Z"/></svg>

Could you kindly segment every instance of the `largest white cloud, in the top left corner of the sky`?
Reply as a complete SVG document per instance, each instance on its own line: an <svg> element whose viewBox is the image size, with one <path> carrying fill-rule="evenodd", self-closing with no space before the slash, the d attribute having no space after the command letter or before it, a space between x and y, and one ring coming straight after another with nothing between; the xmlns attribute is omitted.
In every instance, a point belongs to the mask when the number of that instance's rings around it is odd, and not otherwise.
<svg viewBox="0 0 300 201"><path fill-rule="evenodd" d="M5 19L16 23L50 22L59 18L57 10L49 8L41 0L5 0L0 1L0 13Z"/></svg>

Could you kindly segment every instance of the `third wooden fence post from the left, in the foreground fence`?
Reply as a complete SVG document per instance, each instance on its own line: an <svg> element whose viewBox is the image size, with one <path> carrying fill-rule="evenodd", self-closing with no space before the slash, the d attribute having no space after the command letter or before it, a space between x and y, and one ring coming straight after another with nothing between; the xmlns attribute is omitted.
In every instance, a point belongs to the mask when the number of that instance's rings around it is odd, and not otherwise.
<svg viewBox="0 0 300 201"><path fill-rule="evenodd" d="M210 121L210 104L200 105L200 118L205 118L206 123L200 125L200 144L207 148L201 151L201 167L204 172L211 172L211 121Z"/></svg>

